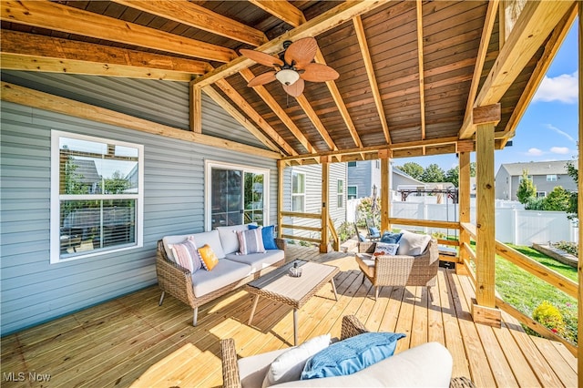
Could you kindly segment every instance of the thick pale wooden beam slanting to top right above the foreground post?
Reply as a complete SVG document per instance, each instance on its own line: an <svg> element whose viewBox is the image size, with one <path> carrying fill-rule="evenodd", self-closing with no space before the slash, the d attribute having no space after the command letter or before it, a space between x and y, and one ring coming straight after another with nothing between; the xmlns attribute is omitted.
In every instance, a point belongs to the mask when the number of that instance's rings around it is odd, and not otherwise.
<svg viewBox="0 0 583 388"><path fill-rule="evenodd" d="M508 88L527 66L528 61L542 46L562 18L567 15L574 0L527 2L517 23L500 50L492 70L476 97L474 107L500 102ZM550 58L547 58L550 60ZM471 123L462 128L460 138L469 138L475 132Z"/></svg>

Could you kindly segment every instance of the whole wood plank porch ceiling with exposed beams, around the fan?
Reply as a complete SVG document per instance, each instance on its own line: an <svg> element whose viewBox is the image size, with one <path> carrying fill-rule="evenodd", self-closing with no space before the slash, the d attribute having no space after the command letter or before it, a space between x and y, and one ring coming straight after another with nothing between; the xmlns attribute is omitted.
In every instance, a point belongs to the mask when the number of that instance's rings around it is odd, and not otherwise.
<svg viewBox="0 0 583 388"><path fill-rule="evenodd" d="M514 2L501 12L498 1L3 1L1 64L190 82L195 113L202 90L294 163L471 150L473 107L498 102L503 148L575 3L527 2L508 31ZM315 61L337 80L306 82L297 98L277 81L247 87L268 68L240 48L278 54L304 36L317 39Z"/></svg>

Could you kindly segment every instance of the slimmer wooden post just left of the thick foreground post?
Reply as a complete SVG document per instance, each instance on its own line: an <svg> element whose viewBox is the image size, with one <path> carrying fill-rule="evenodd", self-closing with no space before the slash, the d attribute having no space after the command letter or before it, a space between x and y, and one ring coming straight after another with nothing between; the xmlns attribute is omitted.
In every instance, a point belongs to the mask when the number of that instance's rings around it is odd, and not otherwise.
<svg viewBox="0 0 583 388"><path fill-rule="evenodd" d="M459 188L458 188L458 205L459 205L459 221L460 223L469 223L470 221L470 153L466 151L459 152ZM465 229L461 229L459 233L460 247L464 243L470 243L469 233ZM460 274L467 273L465 271L465 260L469 260L469 255L465 249L459 250L459 262L455 265L455 271ZM459 271L458 271L459 270Z"/></svg>

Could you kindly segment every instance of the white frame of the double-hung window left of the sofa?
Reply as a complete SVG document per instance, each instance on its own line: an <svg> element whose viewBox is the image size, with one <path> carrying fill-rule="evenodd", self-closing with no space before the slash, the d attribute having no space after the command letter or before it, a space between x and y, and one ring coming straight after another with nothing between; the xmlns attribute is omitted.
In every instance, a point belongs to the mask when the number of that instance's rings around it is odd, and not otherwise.
<svg viewBox="0 0 583 388"><path fill-rule="evenodd" d="M132 194L61 194L60 193L60 139L72 138L78 140L92 141L103 144L113 144L115 146L137 148L138 149L138 192ZM100 138L95 136L82 135L74 132L66 132L51 129L51 196L50 196L50 264L58 264L73 260L81 260L89 257L107 255L123 250L135 250L144 245L144 146L142 144L129 143L127 141L115 140L112 138ZM60 216L62 200L107 200L107 199L135 199L136 200L136 243L131 246L112 247L110 249L101 248L99 250L88 250L87 253L61 258L60 244Z"/></svg>

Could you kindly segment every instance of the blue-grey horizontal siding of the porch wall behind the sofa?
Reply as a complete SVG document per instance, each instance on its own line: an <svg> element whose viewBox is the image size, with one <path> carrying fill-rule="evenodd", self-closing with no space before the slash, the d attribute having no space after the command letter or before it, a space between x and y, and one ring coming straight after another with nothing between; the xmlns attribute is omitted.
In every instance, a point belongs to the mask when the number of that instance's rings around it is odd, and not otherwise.
<svg viewBox="0 0 583 388"><path fill-rule="evenodd" d="M3 75L4 76L4 75ZM64 77L64 80L68 78ZM53 82L52 77L47 80ZM14 81L14 79L13 79ZM40 79L39 79L40 81ZM48 82L47 81L47 82ZM91 81L89 77L84 82ZM111 79L107 79L107 85ZM68 97L102 90L103 77L94 87L73 90ZM128 87L128 80L119 78ZM169 98L159 89L174 87L158 81L134 80L128 88L140 111L173 111L185 101ZM40 87L37 85L37 89ZM62 89L60 89L62 91ZM50 91L50 90L45 90ZM170 93L171 94L171 93ZM111 95L111 94L110 94ZM102 103L107 97L99 98ZM95 99L99 95L97 94ZM77 99L82 99L78 97ZM91 98L93 99L93 98ZM145 102L147 101L147 102ZM141 116L141 115L140 115ZM188 120L182 114L174 123ZM230 123L232 124L232 123ZM210 148L157 135L117 128L12 103L2 103L0 131L0 270L1 333L5 335L58 316L87 308L156 283L156 242L165 235L204 228L205 159L271 170L270 223L276 221L277 167L275 160ZM135 250L103 254L51 265L49 263L50 131L58 129L143 144L144 245ZM244 128L233 130L245 131Z"/></svg>

